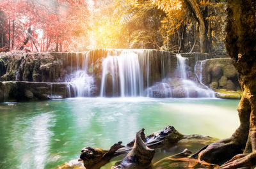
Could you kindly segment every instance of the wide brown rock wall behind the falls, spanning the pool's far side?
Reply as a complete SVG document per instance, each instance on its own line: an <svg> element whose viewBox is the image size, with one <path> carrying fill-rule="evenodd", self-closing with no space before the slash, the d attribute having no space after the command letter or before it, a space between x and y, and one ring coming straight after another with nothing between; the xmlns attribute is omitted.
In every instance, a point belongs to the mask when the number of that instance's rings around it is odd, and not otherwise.
<svg viewBox="0 0 256 169"><path fill-rule="evenodd" d="M83 84L72 84L73 81L68 80L78 70L86 71L86 76L93 77L93 84L88 87L91 91L88 96L99 96L102 61L108 55L117 56L122 52L138 54L140 66L143 69L141 80L144 86L142 87L147 87L148 81L149 95L152 97L204 97L205 95L200 93L201 89L207 89L205 85L212 89L233 91L240 89L232 61L229 58L211 59L216 56L209 54L180 54L187 58L185 68L187 81L191 80L198 84L195 87L195 84L187 83L184 88L182 87L184 82L180 80L177 72L180 66L179 60L177 55L171 52L122 49L98 49L84 53L8 52L0 54L0 81L3 82L0 83L0 101L79 96L77 92L84 89L83 86L81 89L77 87ZM146 68L150 70L147 71ZM148 77L147 74L149 74ZM118 79L119 76L115 75ZM81 81L83 77L77 78ZM118 83L118 80L116 82ZM109 72L106 75L106 83L109 84L106 87L106 93L110 91L109 96L112 96L113 75L111 76Z"/></svg>

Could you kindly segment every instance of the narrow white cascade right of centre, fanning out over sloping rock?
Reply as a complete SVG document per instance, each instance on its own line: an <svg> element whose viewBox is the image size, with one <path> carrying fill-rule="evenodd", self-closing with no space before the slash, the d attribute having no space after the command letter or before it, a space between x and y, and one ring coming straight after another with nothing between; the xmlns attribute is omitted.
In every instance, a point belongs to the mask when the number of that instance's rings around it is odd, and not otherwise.
<svg viewBox="0 0 256 169"><path fill-rule="evenodd" d="M199 98L214 98L215 94L214 91L206 87L205 85L198 85L195 81L190 80L188 78L188 58L182 57L180 54L176 54L177 57L177 69L180 72L180 85L182 86L182 89L184 90L184 96L186 98L193 98L193 97L199 97ZM202 71L202 69L201 69ZM195 73L196 74L196 73ZM197 75L196 75L197 76ZM198 76L197 76L198 78ZM202 77L198 78L198 81L200 82L200 79L202 80ZM200 82L201 84L201 82Z"/></svg>

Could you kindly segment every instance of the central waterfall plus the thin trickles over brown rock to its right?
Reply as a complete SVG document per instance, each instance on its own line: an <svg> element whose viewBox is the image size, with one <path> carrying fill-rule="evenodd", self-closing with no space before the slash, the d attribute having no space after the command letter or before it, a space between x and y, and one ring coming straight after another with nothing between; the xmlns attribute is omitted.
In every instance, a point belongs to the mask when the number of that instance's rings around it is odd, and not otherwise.
<svg viewBox="0 0 256 169"><path fill-rule="evenodd" d="M154 82L170 74L170 55L152 50L109 52L102 61L100 96L149 96Z"/></svg>

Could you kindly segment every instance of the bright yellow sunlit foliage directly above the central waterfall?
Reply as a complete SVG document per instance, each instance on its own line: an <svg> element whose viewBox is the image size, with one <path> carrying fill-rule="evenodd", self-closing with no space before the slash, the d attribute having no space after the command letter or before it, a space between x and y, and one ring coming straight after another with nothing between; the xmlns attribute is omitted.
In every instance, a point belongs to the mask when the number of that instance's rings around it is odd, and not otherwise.
<svg viewBox="0 0 256 169"><path fill-rule="evenodd" d="M102 6L104 4L104 6ZM90 15L90 48L160 48L163 11L150 1L102 1Z"/></svg>

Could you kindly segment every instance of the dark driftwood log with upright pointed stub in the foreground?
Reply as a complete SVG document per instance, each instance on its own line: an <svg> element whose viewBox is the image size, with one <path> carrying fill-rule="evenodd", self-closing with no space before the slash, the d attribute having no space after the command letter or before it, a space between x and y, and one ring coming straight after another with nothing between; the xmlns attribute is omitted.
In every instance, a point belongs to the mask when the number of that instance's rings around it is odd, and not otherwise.
<svg viewBox="0 0 256 169"><path fill-rule="evenodd" d="M150 148L169 146L173 143L177 143L180 139L184 137L172 126L167 126L163 130L152 133L147 137L145 137L144 130L145 129L141 129L138 133L136 133L135 140L127 143L127 145L123 146L121 145L122 142L118 142L113 145L109 151L99 149L97 147L84 147L84 149L82 149L81 151L81 156L79 160L83 161L86 169L97 169L101 166L104 166L106 163L109 163L109 160L111 158L114 158L115 156L118 156L120 154L127 153L129 151L131 151L131 153L127 154L127 156L134 156L132 154L138 153L140 154L141 158L143 158L143 154L148 153L152 154L153 158L154 151ZM150 161L152 160L152 158L150 158ZM131 159L128 159L129 158L125 157L125 161L123 161L123 163L120 163L119 166L122 166L123 168L124 166L129 167L126 164L127 161L129 161L131 165L134 165L134 163L136 163L136 160L144 160L134 158L134 161L132 162ZM140 166L142 166L142 164L148 165L147 162L143 162Z"/></svg>

